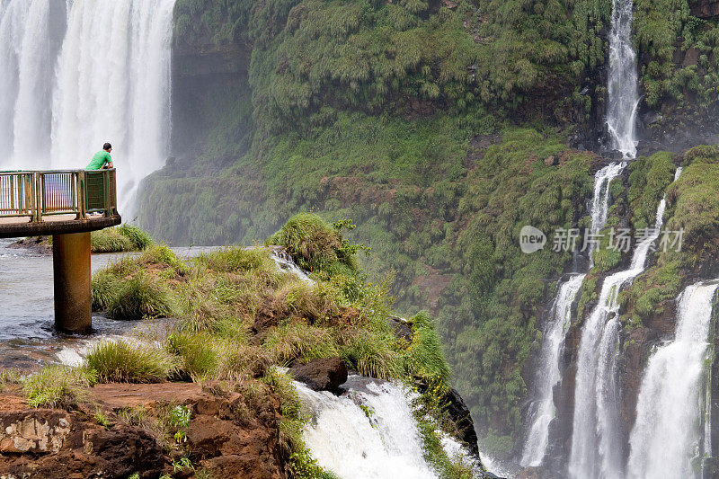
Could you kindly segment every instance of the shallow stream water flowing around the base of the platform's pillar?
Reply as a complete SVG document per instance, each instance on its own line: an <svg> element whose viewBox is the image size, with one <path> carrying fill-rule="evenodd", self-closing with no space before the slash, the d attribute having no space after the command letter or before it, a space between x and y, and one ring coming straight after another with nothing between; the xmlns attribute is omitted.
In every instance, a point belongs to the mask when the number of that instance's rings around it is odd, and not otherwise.
<svg viewBox="0 0 719 479"><path fill-rule="evenodd" d="M53 327L52 256L9 248L14 239L0 239L0 368L31 370L58 360L67 349L80 349L88 340L131 333L138 322L115 321L93 313L93 333L69 335ZM181 257L196 256L213 248L173 248ZM126 255L93 254L92 271ZM154 322L142 322L149 326Z"/></svg>

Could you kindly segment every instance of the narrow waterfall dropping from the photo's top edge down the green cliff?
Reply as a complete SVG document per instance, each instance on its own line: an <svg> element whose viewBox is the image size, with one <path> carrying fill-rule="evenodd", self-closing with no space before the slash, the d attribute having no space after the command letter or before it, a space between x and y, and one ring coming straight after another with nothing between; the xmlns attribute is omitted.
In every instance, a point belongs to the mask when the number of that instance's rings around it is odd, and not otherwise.
<svg viewBox="0 0 719 479"><path fill-rule="evenodd" d="M639 105L636 55L632 48L632 0L612 0L609 33L607 127L611 146L625 158L636 156L635 122Z"/></svg>

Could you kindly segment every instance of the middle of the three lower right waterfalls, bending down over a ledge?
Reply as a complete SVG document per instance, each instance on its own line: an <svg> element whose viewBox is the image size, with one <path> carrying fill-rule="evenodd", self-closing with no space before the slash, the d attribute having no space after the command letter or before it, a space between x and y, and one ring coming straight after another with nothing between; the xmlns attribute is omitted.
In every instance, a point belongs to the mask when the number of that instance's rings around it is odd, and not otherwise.
<svg viewBox="0 0 719 479"><path fill-rule="evenodd" d="M675 180L680 173L678 169ZM662 198L654 227L635 246L629 269L604 279L597 306L581 329L569 461L569 473L576 479L623 477L617 411L617 298L620 289L644 271L650 249L660 235L666 206L666 198Z"/></svg>

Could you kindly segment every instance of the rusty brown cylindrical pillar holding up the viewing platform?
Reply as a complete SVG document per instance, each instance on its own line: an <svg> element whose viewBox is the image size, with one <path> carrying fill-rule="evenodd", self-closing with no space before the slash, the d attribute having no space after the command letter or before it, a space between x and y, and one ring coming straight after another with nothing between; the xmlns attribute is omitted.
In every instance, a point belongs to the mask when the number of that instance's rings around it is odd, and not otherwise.
<svg viewBox="0 0 719 479"><path fill-rule="evenodd" d="M55 328L87 333L92 328L90 296L90 233L52 236L55 276Z"/></svg>

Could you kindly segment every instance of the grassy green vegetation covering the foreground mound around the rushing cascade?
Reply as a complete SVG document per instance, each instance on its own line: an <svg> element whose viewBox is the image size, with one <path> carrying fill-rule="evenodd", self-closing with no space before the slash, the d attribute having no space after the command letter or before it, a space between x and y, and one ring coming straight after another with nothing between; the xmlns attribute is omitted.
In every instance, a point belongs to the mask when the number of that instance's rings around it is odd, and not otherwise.
<svg viewBox="0 0 719 479"><path fill-rule="evenodd" d="M159 245L121 258L95 273L93 297L98 302L110 298L110 314L114 301L131 304L121 299L128 283L137 283L132 297L151 297L161 287L177 319L160 334L161 347L130 340L102 342L78 370L89 371L99 382L211 381L212 387L240 394L235 406L239 421L253 421L268 395L275 395L282 412L280 442L297 477L334 476L317 465L302 440L308 418L301 413L291 379L278 368L296 361L339 356L365 376L426 384L422 413L442 418L442 427L451 430L453 423L443 415L449 368L431 316L422 312L409 320L411 342L395 335L387 322L391 298L386 285L370 284L360 274L356 255L361 248L341 234L348 225L302 214L268 240L273 248L280 243L293 257L316 265L310 266L311 282L280 270L267 247L222 248L183 262ZM152 431L166 448L182 453L173 463L178 471L193 467L182 462L191 457L182 452L191 421L184 406L169 405L152 415L126 411L119 418ZM431 421L424 433L432 441L432 464L443 477L465 477L461 461L442 456L437 448L431 424L439 424L439 419Z"/></svg>

